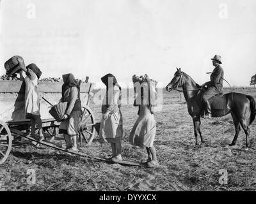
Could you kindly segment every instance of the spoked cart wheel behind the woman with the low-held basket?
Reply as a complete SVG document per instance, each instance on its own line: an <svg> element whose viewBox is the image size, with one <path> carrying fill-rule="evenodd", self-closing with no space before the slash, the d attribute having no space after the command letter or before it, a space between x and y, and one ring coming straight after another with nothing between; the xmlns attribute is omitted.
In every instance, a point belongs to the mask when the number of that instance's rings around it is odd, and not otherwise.
<svg viewBox="0 0 256 204"><path fill-rule="evenodd" d="M85 140L90 145L95 135L95 116L89 106L84 106L82 110L83 114L78 126L78 142Z"/></svg>

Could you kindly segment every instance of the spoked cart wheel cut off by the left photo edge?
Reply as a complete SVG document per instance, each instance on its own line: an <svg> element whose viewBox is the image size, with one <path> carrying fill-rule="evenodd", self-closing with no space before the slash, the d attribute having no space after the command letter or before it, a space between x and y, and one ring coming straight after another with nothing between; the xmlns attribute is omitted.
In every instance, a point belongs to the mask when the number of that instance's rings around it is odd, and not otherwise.
<svg viewBox="0 0 256 204"><path fill-rule="evenodd" d="M13 136L10 129L5 122L0 120L0 164L3 164L9 156L12 149L12 140Z"/></svg>

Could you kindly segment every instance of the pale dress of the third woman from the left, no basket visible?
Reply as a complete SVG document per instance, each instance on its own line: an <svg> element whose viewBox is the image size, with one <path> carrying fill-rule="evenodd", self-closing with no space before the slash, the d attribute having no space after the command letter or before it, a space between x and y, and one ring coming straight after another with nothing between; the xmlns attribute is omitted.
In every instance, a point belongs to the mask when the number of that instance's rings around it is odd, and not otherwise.
<svg viewBox="0 0 256 204"><path fill-rule="evenodd" d="M120 91L118 87L109 88L102 103L102 117L100 122L99 136L105 142L115 143L123 137L123 117L118 105ZM103 114L109 111L108 119L103 119Z"/></svg>

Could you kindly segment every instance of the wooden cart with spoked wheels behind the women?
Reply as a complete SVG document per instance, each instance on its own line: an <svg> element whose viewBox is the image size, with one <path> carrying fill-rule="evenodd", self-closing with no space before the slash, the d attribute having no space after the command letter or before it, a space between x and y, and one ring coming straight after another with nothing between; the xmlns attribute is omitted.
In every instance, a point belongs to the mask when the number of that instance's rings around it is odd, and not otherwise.
<svg viewBox="0 0 256 204"><path fill-rule="evenodd" d="M49 114L51 106L47 101L51 101L52 104L60 101L61 85L60 82L40 82L38 86L43 130L47 131L52 139L54 139L60 123L56 122ZM93 85L91 83L81 83L80 85L83 115L78 128L78 141L87 142L88 145L92 143L95 135L95 116L89 107ZM19 135L36 142L29 137L30 120L26 120L24 115L24 91L25 84L22 81L0 81L0 164L3 164L10 154L13 136ZM42 143L45 144L45 142ZM45 145L52 146L51 143Z"/></svg>

